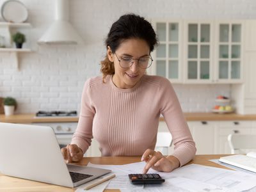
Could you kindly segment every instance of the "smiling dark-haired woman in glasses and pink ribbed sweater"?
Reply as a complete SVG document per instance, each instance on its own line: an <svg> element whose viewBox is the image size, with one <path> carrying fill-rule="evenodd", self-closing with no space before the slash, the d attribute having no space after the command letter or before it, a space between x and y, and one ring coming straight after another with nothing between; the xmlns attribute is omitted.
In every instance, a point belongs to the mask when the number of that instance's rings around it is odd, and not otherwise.
<svg viewBox="0 0 256 192"><path fill-rule="evenodd" d="M106 39L103 77L86 81L81 113L72 142L62 148L64 159L80 161L94 137L102 156L142 156L149 168L171 172L195 156L195 143L184 120L179 100L168 79L147 76L156 33L143 17L123 15ZM175 150L164 157L154 151L159 115L164 116Z"/></svg>

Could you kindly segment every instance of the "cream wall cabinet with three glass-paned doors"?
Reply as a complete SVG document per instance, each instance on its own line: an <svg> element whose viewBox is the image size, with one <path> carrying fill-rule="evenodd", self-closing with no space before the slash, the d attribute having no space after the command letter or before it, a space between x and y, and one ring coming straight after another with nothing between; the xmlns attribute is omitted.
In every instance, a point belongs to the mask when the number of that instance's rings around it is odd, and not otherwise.
<svg viewBox="0 0 256 192"><path fill-rule="evenodd" d="M243 22L155 21L151 74L172 83L242 83Z"/></svg>

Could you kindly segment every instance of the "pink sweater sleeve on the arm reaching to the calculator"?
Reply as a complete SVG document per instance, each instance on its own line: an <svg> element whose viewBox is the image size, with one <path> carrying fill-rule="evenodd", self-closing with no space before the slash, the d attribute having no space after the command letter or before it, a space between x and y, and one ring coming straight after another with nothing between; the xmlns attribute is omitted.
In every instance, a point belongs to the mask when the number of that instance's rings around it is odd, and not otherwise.
<svg viewBox="0 0 256 192"><path fill-rule="evenodd" d="M163 78L159 90L161 97L159 99L160 112L164 116L164 120L172 134L174 145L172 156L177 157L180 161L180 166L183 166L195 156L195 142L170 81Z"/></svg>

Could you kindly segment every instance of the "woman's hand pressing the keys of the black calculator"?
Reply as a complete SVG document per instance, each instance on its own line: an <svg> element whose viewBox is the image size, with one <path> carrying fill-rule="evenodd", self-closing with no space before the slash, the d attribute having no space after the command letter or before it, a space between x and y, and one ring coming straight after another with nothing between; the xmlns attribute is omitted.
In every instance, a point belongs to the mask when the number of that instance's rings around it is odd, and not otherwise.
<svg viewBox="0 0 256 192"><path fill-rule="evenodd" d="M158 172L172 172L180 165L179 159L174 156L164 157L161 152L156 152L150 148L145 150L141 157L141 161L145 161L147 164L143 169L143 174L147 173L150 168Z"/></svg>

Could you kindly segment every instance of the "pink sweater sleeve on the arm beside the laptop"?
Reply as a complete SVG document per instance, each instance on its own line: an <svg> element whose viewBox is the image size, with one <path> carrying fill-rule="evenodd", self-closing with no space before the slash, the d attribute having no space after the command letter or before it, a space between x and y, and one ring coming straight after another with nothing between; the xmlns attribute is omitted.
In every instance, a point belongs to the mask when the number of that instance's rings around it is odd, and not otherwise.
<svg viewBox="0 0 256 192"><path fill-rule="evenodd" d="M81 98L81 111L76 132L72 137L71 144L76 144L86 152L92 142L92 124L95 115L95 108L92 104L90 97L90 79L84 83L82 98Z"/></svg>

